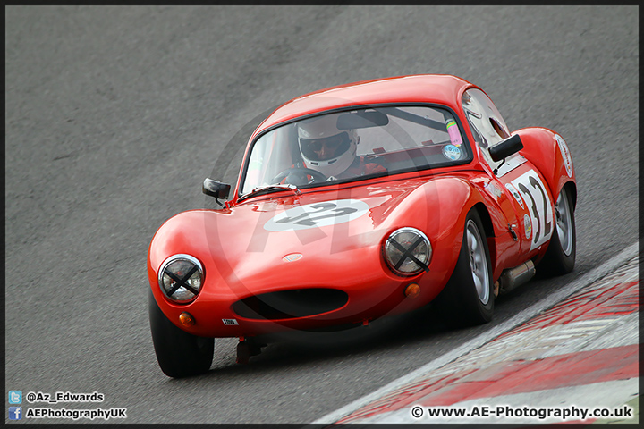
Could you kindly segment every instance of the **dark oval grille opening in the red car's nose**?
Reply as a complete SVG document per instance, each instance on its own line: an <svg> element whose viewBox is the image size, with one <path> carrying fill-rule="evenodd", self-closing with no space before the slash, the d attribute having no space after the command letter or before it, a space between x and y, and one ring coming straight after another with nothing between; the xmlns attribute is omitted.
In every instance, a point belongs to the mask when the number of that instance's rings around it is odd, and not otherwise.
<svg viewBox="0 0 644 429"><path fill-rule="evenodd" d="M292 319L335 310L348 300L342 290L281 290L239 300L233 304L233 311L247 319Z"/></svg>

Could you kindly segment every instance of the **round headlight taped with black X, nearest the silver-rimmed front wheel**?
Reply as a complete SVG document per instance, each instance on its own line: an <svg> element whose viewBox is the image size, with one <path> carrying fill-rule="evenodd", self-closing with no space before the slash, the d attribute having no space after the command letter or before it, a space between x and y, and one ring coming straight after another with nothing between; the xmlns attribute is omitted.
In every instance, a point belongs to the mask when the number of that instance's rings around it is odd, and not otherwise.
<svg viewBox="0 0 644 429"><path fill-rule="evenodd" d="M412 275L429 271L431 243L427 236L416 228L401 228L394 231L385 241L387 265L394 273Z"/></svg>

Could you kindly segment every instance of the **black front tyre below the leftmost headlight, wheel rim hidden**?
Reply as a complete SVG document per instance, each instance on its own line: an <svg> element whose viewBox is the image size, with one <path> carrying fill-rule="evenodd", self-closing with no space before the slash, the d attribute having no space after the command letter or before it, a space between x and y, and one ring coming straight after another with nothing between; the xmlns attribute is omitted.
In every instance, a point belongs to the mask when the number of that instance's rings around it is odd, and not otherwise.
<svg viewBox="0 0 644 429"><path fill-rule="evenodd" d="M182 331L165 317L149 292L149 321L157 361L165 375L174 378L208 372L215 340Z"/></svg>

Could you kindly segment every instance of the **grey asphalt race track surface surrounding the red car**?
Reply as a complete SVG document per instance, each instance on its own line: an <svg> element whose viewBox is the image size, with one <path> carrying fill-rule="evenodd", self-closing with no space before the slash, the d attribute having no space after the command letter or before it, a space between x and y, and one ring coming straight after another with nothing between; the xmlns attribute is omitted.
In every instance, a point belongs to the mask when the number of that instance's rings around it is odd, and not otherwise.
<svg viewBox="0 0 644 429"><path fill-rule="evenodd" d="M638 240L637 6L7 6L5 27L5 394L105 395L42 407L127 408L117 423L312 422ZM499 299L485 326L415 315L272 344L247 366L222 339L208 374L165 377L147 309L160 224L212 204L205 177L236 181L276 105L416 73L470 80L511 129L566 139L575 271Z"/></svg>

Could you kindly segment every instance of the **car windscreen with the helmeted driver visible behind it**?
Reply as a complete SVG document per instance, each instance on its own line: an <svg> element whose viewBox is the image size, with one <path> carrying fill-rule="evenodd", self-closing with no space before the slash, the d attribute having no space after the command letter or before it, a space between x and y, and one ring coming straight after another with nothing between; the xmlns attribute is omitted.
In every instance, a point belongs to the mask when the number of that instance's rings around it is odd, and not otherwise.
<svg viewBox="0 0 644 429"><path fill-rule="evenodd" d="M386 105L318 114L262 134L244 164L241 193L273 184L323 186L471 160L462 124L446 108Z"/></svg>

